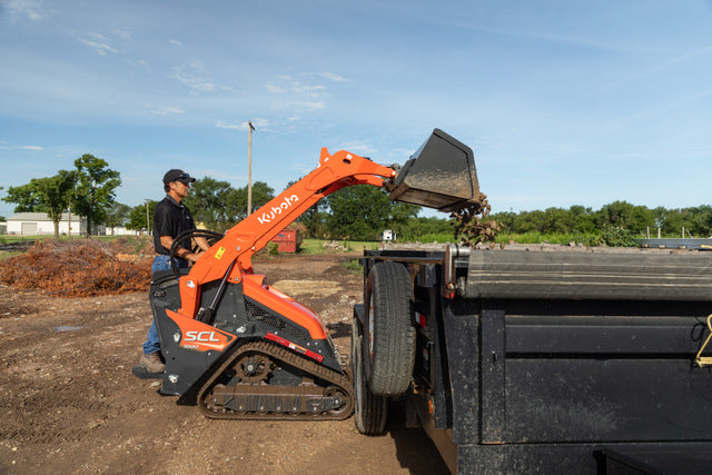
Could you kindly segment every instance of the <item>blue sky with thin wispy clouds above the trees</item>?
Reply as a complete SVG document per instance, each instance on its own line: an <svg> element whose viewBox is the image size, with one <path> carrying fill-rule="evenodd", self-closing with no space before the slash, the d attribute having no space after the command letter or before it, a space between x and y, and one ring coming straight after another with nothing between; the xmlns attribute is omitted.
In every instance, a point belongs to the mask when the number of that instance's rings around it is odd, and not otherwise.
<svg viewBox="0 0 712 475"><path fill-rule="evenodd" d="M130 206L169 168L243 187L251 120L276 191L437 127L494 211L711 201L710 0L0 0L0 60L6 189L82 154Z"/></svg>

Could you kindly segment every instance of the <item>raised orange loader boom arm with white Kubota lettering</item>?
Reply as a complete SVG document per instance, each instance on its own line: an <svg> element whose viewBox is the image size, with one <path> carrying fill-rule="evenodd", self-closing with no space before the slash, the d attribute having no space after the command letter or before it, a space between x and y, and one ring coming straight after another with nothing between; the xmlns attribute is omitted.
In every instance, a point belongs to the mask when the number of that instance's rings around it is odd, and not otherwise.
<svg viewBox="0 0 712 475"><path fill-rule="evenodd" d="M383 186L396 176L393 168L345 150L322 149L318 167L265 206L230 228L180 278L179 314L195 318L204 284L224 279L240 283L253 274L251 258L319 199L352 185Z"/></svg>

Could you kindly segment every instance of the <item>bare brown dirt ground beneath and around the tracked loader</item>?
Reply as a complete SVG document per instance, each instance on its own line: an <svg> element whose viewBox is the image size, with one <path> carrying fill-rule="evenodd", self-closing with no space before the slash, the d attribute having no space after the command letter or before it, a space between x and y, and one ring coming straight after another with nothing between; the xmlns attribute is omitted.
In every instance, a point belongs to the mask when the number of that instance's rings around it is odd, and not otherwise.
<svg viewBox="0 0 712 475"><path fill-rule="evenodd" d="M319 314L349 354L357 255L255 263ZM0 474L447 473L422 429L392 407L386 435L342 422L208 419L131 375L150 324L148 293L58 298L0 285Z"/></svg>

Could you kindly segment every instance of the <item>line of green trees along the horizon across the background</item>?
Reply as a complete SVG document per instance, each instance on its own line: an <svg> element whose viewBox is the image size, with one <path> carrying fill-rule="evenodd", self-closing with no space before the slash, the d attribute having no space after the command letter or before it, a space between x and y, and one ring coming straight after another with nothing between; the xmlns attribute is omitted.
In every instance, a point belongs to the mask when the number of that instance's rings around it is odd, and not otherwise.
<svg viewBox="0 0 712 475"><path fill-rule="evenodd" d="M70 208L72 214L87 218L90 229L96 224L109 228L150 229L158 201L146 200L135 207L117 202L115 192L120 184L119 172L111 170L106 160L85 154L75 160L73 170L59 170L53 177L33 178L27 185L9 187L2 199L17 204L16 212L47 212L55 221L56 235L61 214ZM192 184L184 202L205 228L225 231L247 216L247 194L246 186L234 188L227 181L205 177ZM274 189L266 182L255 182L253 210L274 197ZM313 238L373 240L379 239L385 229L396 231L400 240L428 240L433 236L454 238L452 219L447 215L422 217L419 212L417 206L390 201L380 188L358 185L329 195L297 221L305 237ZM506 235L603 236L602 241L630 241L649 232L656 237L659 230L662 237L681 237L684 228L685 237L712 236L710 205L651 209L614 201L597 210L575 205L567 209L495 212L485 219L500 222L501 234Z"/></svg>

